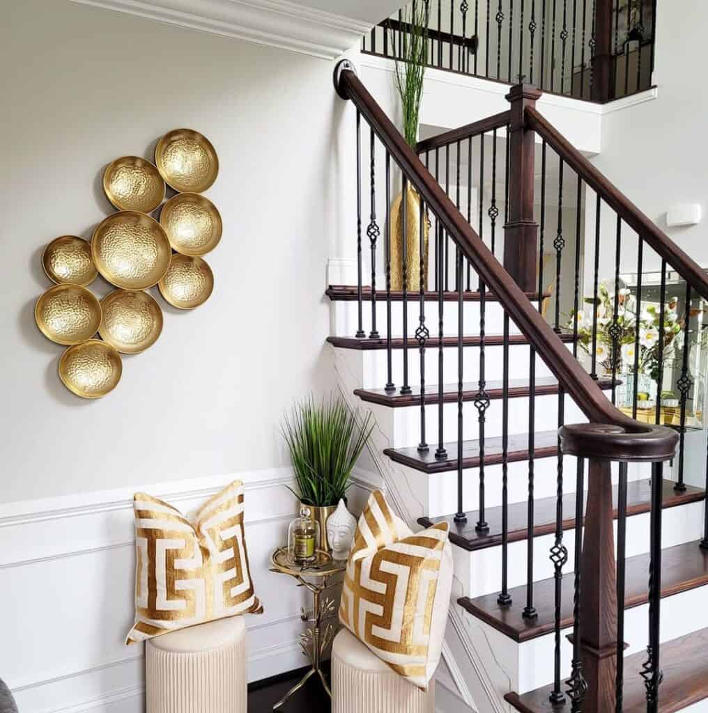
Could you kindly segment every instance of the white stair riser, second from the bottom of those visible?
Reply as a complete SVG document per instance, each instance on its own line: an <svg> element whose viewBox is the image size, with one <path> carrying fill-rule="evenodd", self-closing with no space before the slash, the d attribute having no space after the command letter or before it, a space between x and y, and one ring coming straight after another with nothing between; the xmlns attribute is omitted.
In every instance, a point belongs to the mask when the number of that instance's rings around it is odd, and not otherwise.
<svg viewBox="0 0 708 713"><path fill-rule="evenodd" d="M663 511L662 548L673 547L692 542L700 537L703 527L704 503L667 508ZM555 542L555 535L543 535L534 538L534 581L553 576L554 568L549 559L550 548ZM563 533L563 542L568 550L568 563L564 572L575 568L574 548L575 530ZM617 542L617 520L615 520L615 543ZM633 515L627 518L627 557L649 552L649 513ZM527 558L526 541L509 544L509 587L526 583ZM469 593L468 597L480 597L498 592L502 580L502 561L500 545L476 550L469 553Z"/></svg>

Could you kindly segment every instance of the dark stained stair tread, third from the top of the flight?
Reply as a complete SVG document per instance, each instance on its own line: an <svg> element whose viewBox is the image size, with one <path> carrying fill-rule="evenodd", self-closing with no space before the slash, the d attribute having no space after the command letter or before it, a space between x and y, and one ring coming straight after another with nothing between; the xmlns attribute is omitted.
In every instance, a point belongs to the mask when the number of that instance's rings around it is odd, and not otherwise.
<svg viewBox="0 0 708 713"><path fill-rule="evenodd" d="M617 381L619 384L619 381ZM612 389L612 379L600 379L597 381L600 389ZM503 395L502 381L487 381L485 391L490 399L501 399ZM382 406L391 406L393 409L401 406L413 406L420 404L420 386L411 386L412 394L401 394L397 389L393 394L387 394L385 389L355 389L354 394L359 396L362 401L368 401L371 404L381 404ZM509 379L509 396L510 398L518 398L520 396L529 396L530 388L528 379ZM457 384L445 384L442 387L442 401L444 403L453 403L457 401ZM425 403L437 404L439 387L435 384L425 387ZM474 401L480 391L477 381L470 381L462 384L462 401ZM547 396L548 394L558 393L558 381L553 376L545 376L536 379L535 394L536 396Z"/></svg>

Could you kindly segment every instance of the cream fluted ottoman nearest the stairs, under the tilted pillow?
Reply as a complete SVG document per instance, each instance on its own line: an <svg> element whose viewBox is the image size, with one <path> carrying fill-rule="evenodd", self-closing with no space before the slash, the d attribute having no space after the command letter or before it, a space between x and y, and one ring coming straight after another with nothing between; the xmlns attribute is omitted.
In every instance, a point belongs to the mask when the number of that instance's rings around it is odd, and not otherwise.
<svg viewBox="0 0 708 713"><path fill-rule="evenodd" d="M435 679L416 688L349 630L332 644L332 713L435 713Z"/></svg>

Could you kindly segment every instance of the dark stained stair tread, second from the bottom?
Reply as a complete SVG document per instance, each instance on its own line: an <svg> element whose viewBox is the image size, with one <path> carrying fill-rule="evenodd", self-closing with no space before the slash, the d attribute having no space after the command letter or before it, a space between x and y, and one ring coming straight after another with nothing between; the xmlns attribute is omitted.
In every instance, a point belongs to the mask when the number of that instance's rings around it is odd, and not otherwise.
<svg viewBox="0 0 708 713"><path fill-rule="evenodd" d="M708 584L708 551L700 542L690 542L662 550L662 597L669 597ZM637 607L648 601L649 555L637 555L626 560L624 605ZM572 626L575 574L563 575L561 626ZM526 587L509 590L512 603L502 607L497 603L498 593L482 597L462 597L457 600L470 614L487 622L517 642L535 639L553 631L555 612L555 579L550 578L533 585L533 601L538 612L535 620L525 620L522 611L526 602Z"/></svg>

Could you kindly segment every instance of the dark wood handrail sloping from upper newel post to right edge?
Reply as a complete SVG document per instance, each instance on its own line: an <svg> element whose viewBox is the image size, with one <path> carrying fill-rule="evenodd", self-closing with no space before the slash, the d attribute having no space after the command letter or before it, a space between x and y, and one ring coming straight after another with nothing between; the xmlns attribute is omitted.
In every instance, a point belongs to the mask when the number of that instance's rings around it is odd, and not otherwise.
<svg viewBox="0 0 708 713"><path fill-rule="evenodd" d="M570 141L545 119L536 109L527 108L526 120L529 128L545 138L547 143L558 153L577 175L596 193L600 193L619 217L637 232L667 265L676 270L701 297L708 299L708 275L705 270L692 260L654 221L639 210L607 176L597 170Z"/></svg>

